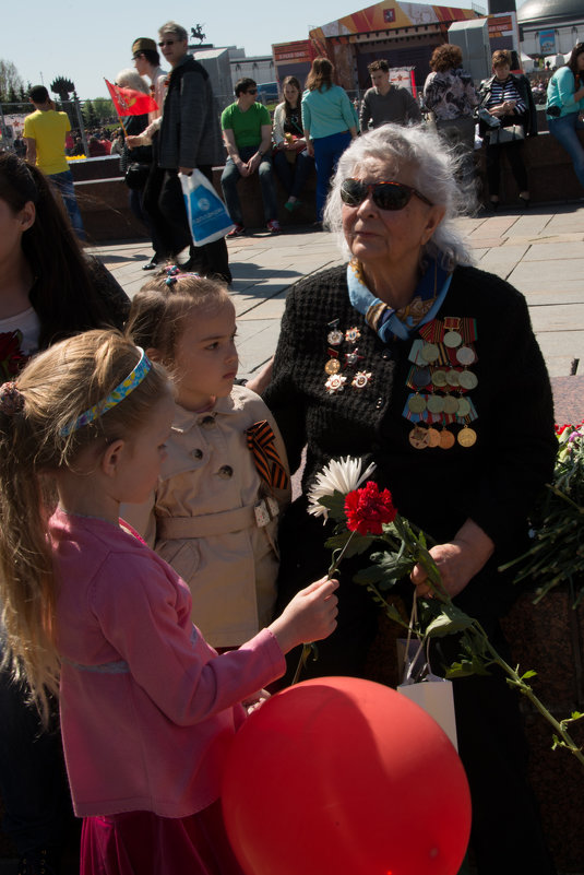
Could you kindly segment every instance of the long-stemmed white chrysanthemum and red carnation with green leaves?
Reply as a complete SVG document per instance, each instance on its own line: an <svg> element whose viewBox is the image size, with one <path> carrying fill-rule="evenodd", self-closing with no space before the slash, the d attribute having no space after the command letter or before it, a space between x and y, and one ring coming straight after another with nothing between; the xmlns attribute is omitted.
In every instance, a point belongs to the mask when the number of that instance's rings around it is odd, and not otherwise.
<svg viewBox="0 0 584 875"><path fill-rule="evenodd" d="M569 725L584 714L574 711L564 720L556 720L527 683L536 672L529 670L520 674L519 666L509 665L492 647L480 623L452 602L432 559L428 536L400 515L389 489L380 489L377 483L368 481L373 471L374 465L369 465L362 472L358 459L332 460L317 475L309 492L309 513L322 517L323 521L331 518L337 523L334 534L325 542L333 552L329 576L334 575L345 557L368 553L371 564L357 572L355 582L367 587L388 616L419 639L420 648L426 647L431 638L460 636L461 654L448 670L446 677L486 675L492 666L499 666L506 675L508 684L526 696L551 723L553 748L565 747L584 766L584 753L568 731ZM380 549L371 552L376 545ZM398 580L409 576L417 565L427 575L430 596L418 600L417 611L407 623L395 605L386 600L385 593ZM295 682L312 647L305 645Z"/></svg>

